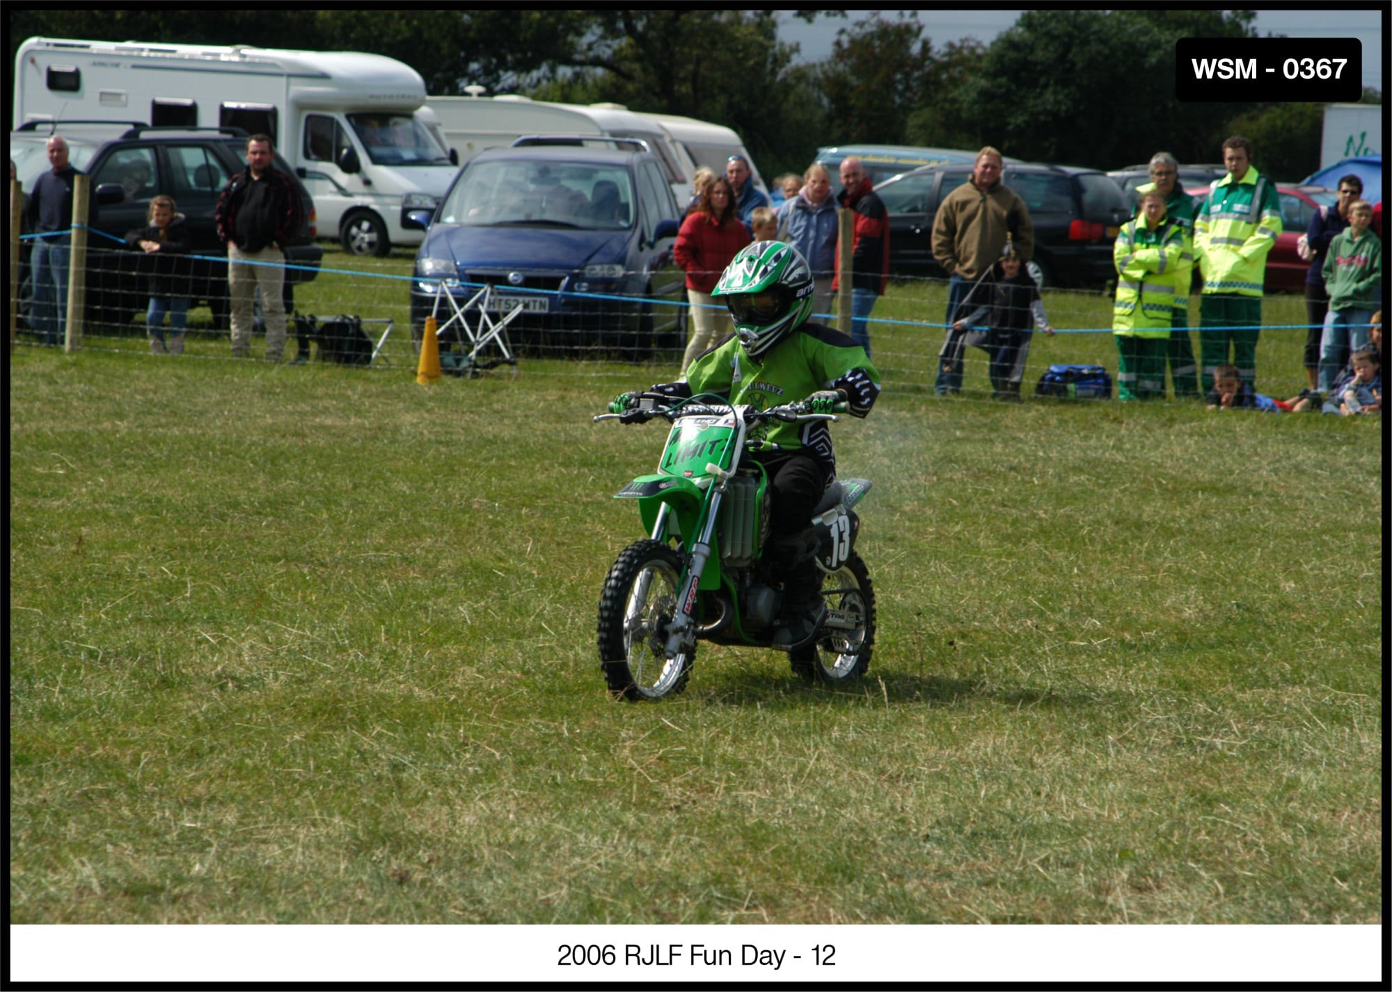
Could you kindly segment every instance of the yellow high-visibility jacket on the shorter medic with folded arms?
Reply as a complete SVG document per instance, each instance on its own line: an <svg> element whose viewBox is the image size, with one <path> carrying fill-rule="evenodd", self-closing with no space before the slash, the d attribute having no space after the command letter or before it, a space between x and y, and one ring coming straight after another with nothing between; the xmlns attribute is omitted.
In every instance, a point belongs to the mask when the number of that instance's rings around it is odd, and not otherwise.
<svg viewBox="0 0 1392 992"><path fill-rule="evenodd" d="M1144 217L1122 224L1112 248L1116 303L1112 331L1123 337L1168 338L1175 312L1175 275L1185 253L1185 230L1168 217L1155 230Z"/></svg>

